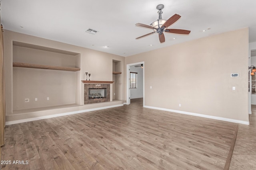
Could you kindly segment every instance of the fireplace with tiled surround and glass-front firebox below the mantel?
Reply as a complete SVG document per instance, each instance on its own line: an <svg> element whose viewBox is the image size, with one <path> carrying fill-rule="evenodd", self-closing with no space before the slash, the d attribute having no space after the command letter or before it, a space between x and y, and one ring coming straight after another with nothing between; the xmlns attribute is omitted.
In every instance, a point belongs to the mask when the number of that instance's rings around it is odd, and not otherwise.
<svg viewBox="0 0 256 170"><path fill-rule="evenodd" d="M84 104L110 102L110 84L84 84Z"/></svg>

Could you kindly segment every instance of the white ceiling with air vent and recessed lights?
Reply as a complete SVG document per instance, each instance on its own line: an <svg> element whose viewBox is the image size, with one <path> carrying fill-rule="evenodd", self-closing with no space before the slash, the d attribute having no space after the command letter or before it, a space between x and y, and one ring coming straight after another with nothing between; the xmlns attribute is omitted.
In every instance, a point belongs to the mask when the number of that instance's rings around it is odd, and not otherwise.
<svg viewBox="0 0 256 170"><path fill-rule="evenodd" d="M157 34L136 40L152 30L135 23L157 20L158 4L163 19L181 16L169 28L190 35L165 33L162 44ZM4 29L126 57L244 27L256 42L255 8L256 0L2 0L0 14Z"/></svg>

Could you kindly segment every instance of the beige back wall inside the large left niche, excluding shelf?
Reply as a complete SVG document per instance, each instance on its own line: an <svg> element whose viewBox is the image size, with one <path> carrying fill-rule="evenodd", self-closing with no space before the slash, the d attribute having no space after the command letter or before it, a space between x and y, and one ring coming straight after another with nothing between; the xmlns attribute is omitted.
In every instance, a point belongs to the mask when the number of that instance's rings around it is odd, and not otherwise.
<svg viewBox="0 0 256 170"><path fill-rule="evenodd" d="M13 62L17 63L76 67L77 59L73 55L13 46ZM21 67L13 67L12 71L13 110L76 103L75 72Z"/></svg>

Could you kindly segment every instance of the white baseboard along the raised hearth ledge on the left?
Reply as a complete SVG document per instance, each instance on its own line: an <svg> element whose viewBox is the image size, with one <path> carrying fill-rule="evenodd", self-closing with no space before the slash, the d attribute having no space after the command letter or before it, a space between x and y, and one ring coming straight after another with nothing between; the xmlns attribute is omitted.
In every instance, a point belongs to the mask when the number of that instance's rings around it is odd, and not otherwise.
<svg viewBox="0 0 256 170"><path fill-rule="evenodd" d="M124 104L118 104L118 105L113 105L113 106L105 106L105 107L97 107L97 108L93 108L93 109L85 109L85 110L78 110L78 111L71 111L71 112L67 112L67 113L47 115L47 116L41 116L41 117L33 117L33 118L21 119L21 120L15 120L15 121L6 121L5 125L13 125L13 124L24 123L24 122L28 122L28 121L36 121L36 120L48 119L48 118L52 118L52 117L72 115L72 114L77 114L77 113L84 113L84 112L88 112L88 111L108 109L108 108L119 107L119 106L124 106Z"/></svg>

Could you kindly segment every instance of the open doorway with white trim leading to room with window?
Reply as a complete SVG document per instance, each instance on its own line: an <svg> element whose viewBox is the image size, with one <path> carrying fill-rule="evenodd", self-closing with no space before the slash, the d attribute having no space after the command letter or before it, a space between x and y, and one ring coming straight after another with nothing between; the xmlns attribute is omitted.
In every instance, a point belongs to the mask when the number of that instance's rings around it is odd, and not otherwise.
<svg viewBox="0 0 256 170"><path fill-rule="evenodd" d="M143 67L141 66L143 65ZM127 64L126 70L126 89L127 89L127 102L126 104L131 104L136 102L137 104L145 105L144 97L144 72L145 64L143 62ZM130 82L130 76L132 74L132 85ZM135 80L134 80L135 78Z"/></svg>

